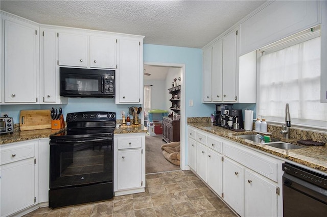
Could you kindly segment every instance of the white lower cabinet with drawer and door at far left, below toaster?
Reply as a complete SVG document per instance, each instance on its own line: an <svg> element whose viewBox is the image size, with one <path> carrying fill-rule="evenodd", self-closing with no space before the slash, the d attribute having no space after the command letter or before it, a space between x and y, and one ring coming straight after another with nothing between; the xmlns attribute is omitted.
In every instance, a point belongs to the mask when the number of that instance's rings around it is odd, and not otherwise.
<svg viewBox="0 0 327 217"><path fill-rule="evenodd" d="M36 202L36 145L34 140L1 147L1 216L14 214Z"/></svg>

